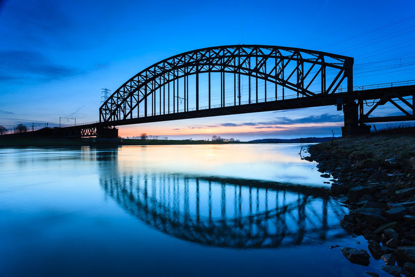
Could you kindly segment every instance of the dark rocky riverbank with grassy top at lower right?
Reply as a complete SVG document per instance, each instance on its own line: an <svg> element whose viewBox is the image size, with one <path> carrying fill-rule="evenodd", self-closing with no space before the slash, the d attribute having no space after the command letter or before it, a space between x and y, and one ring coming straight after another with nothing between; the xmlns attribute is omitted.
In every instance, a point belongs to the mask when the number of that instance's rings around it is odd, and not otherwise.
<svg viewBox="0 0 415 277"><path fill-rule="evenodd" d="M305 159L333 176L333 197L350 209L340 225L368 242L365 249L342 248L343 255L368 265L368 249L386 273L415 276L415 136L343 138L308 151Z"/></svg>

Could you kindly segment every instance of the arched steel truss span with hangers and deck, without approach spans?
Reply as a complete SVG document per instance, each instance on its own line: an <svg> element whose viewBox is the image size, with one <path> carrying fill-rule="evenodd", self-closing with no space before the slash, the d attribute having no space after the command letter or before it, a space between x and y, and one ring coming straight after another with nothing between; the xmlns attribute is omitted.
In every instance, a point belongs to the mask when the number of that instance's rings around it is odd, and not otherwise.
<svg viewBox="0 0 415 277"><path fill-rule="evenodd" d="M220 80L212 80L213 74L219 74ZM203 91L201 75L207 75ZM231 85L225 82L229 78ZM218 83L214 89L213 81ZM279 46L210 47L166 58L130 78L101 106L100 122L121 125L148 117L160 121L264 111L265 105L252 104L304 97L317 100L316 96L339 92L342 84L347 86L343 92L353 88L351 57Z"/></svg>

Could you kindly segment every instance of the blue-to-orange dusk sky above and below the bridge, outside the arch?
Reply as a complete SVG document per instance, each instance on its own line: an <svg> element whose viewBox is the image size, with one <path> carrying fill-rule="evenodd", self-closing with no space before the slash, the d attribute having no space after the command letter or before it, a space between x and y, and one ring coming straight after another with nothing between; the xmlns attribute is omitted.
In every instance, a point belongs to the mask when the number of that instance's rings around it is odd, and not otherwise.
<svg viewBox="0 0 415 277"><path fill-rule="evenodd" d="M413 80L415 2L0 0L0 125L99 120L102 88L172 55L236 44L354 57L355 86ZM341 126L343 112L328 106L119 126L119 135L246 141Z"/></svg>

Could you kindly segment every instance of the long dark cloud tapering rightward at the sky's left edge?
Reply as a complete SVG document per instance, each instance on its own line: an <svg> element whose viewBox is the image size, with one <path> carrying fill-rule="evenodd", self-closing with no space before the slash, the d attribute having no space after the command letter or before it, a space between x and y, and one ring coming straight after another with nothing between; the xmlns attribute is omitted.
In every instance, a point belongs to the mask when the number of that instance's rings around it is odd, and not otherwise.
<svg viewBox="0 0 415 277"><path fill-rule="evenodd" d="M60 79L79 74L80 70L55 64L34 51L0 51L0 80Z"/></svg>

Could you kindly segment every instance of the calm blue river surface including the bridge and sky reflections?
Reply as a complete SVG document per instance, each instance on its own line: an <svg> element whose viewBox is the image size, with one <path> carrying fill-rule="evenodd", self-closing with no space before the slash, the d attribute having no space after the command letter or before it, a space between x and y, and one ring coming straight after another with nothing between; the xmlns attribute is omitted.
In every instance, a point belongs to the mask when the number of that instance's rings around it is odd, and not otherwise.
<svg viewBox="0 0 415 277"><path fill-rule="evenodd" d="M384 275L301 146L0 149L0 277Z"/></svg>

